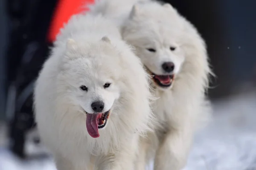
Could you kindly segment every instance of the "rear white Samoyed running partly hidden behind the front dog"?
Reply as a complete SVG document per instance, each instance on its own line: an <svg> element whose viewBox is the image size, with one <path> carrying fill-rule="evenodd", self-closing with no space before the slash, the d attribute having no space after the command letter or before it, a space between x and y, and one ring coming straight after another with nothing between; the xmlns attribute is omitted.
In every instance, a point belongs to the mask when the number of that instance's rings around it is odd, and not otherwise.
<svg viewBox="0 0 256 170"><path fill-rule="evenodd" d="M152 122L154 133L141 139L137 170L152 158L155 170L182 169L197 125L209 117L205 92L212 72L204 40L169 3L98 0L89 8L119 26L152 76L157 124Z"/></svg>

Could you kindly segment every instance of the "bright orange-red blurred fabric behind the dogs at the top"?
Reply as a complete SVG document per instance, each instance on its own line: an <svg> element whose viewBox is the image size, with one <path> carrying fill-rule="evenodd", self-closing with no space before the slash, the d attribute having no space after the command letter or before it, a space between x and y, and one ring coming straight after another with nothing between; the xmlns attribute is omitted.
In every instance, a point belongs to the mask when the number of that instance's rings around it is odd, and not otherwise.
<svg viewBox="0 0 256 170"><path fill-rule="evenodd" d="M73 14L88 10L83 7L86 4L91 4L93 2L94 0L59 0L49 27L47 38L49 42L55 41L60 29L63 27L64 23L67 23Z"/></svg>

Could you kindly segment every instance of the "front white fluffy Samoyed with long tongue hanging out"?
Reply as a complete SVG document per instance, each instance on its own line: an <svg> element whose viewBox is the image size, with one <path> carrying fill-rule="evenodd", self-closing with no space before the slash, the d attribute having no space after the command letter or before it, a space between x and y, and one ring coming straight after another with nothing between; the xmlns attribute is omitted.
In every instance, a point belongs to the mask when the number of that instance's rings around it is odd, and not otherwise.
<svg viewBox="0 0 256 170"><path fill-rule="evenodd" d="M118 28L76 15L35 85L35 118L58 170L132 170L151 119L149 76Z"/></svg>

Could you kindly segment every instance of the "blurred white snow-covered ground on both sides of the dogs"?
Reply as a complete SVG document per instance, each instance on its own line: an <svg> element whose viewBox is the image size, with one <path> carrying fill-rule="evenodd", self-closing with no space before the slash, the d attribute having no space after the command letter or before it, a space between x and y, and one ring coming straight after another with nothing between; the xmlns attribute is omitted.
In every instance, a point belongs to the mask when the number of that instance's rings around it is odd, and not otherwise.
<svg viewBox="0 0 256 170"><path fill-rule="evenodd" d="M256 94L218 101L214 112L197 134L185 170L256 170ZM0 170L56 169L50 157L20 161L0 147Z"/></svg>

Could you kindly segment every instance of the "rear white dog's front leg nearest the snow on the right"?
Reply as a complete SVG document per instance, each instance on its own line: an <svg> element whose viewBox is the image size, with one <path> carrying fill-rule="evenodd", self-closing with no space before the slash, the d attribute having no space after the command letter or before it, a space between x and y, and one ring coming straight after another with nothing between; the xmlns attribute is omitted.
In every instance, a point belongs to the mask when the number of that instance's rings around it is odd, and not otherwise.
<svg viewBox="0 0 256 170"><path fill-rule="evenodd" d="M157 149L154 170L181 170L186 165L191 143L191 128L168 132Z"/></svg>

